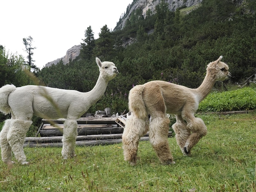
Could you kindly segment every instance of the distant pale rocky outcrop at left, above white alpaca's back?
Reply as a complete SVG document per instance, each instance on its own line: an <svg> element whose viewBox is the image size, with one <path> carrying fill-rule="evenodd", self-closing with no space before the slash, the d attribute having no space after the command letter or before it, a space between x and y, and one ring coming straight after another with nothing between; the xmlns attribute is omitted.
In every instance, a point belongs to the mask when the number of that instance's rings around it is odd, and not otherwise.
<svg viewBox="0 0 256 192"><path fill-rule="evenodd" d="M51 65L56 65L61 59L63 60L64 65L66 65L70 60L74 60L80 54L81 45L74 45L70 49L67 50L66 55L58 58L54 61L48 62L45 64L45 67L49 67Z"/></svg>

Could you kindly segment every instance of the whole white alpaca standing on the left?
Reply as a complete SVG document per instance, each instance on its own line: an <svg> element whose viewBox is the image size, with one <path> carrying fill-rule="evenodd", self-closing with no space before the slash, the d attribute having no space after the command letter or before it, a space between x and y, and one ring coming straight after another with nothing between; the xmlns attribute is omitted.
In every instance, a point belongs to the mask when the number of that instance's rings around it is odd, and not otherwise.
<svg viewBox="0 0 256 192"><path fill-rule="evenodd" d="M99 78L90 92L82 93L37 85L4 85L0 88L0 111L4 114L11 113L11 119L5 121L0 132L2 161L13 163L12 151L18 162L28 163L23 143L33 114L50 119L67 118L64 122L61 154L64 159L75 156L76 119L103 96L108 81L118 74L114 63L101 63L99 58L96 58L96 63L99 66Z"/></svg>

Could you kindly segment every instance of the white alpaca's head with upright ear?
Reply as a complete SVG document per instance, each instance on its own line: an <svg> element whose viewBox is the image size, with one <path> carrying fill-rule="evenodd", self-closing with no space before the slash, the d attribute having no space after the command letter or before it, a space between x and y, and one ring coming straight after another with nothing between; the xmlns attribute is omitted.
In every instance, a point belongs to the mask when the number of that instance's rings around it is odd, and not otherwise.
<svg viewBox="0 0 256 192"><path fill-rule="evenodd" d="M96 63L99 66L101 78L106 81L112 80L119 73L117 67L112 62L104 61L101 63L101 60L96 57Z"/></svg>

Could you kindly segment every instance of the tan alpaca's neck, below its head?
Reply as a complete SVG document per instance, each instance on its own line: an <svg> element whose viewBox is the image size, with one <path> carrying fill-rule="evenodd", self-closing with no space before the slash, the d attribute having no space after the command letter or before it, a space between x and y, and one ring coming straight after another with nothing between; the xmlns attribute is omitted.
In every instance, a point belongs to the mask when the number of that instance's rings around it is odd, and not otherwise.
<svg viewBox="0 0 256 192"><path fill-rule="evenodd" d="M215 83L215 78L211 74L209 74L207 71L207 74L204 77L202 84L200 85L200 87L195 89L200 96L200 102L204 98L206 98L206 96L211 92L211 89L213 88L214 83Z"/></svg>

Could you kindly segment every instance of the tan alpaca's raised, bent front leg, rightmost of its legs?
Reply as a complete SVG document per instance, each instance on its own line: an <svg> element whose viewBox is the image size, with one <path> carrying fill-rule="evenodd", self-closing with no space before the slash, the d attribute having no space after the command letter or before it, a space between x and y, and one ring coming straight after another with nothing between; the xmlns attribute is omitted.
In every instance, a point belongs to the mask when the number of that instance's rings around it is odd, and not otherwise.
<svg viewBox="0 0 256 192"><path fill-rule="evenodd" d="M194 147L198 141L207 134L207 127L204 124L204 121L198 117L195 117L187 122L187 128L191 130L192 134L186 141L184 152L189 154L192 147Z"/></svg>

